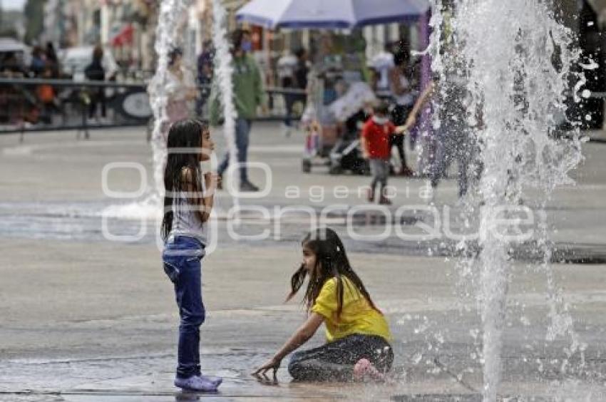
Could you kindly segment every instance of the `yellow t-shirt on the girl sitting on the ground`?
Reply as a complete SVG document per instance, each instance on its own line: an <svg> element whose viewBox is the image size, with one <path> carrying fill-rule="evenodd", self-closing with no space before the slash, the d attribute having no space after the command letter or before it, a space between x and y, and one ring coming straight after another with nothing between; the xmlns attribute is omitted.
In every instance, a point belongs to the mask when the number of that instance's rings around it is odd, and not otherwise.
<svg viewBox="0 0 606 402"><path fill-rule="evenodd" d="M356 286L346 277L343 281L343 306L337 319L337 279L324 282L312 311L324 316L327 341L353 334L377 335L391 340L391 332L385 316L371 307Z"/></svg>

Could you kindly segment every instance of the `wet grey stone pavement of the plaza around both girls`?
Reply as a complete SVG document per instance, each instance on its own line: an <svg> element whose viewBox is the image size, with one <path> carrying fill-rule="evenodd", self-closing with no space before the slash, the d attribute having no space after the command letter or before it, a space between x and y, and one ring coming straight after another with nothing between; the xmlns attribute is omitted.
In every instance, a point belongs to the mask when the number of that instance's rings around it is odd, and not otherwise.
<svg viewBox="0 0 606 402"><path fill-rule="evenodd" d="M309 222L303 213L282 221L281 235L261 242L232 239L225 215L219 247L204 260L203 288L209 314L202 326L202 368L225 377L220 393L180 393L172 386L178 317L173 291L159 264L154 221L108 220L115 234L146 234L133 242L103 235L101 211L128 200L101 191L103 166L141 163L150 174L145 133L96 132L76 141L72 133L0 138L0 401L478 401L481 332L476 300L456 269L457 242L404 241L395 227L414 232L430 223L414 208L392 220L386 239L359 240L347 232L344 212L330 215L344 237L354 268L388 316L396 361L386 384L292 383L250 376L304 319L296 302L283 304L289 277L299 264L299 239ZM222 149L221 139L217 138ZM302 138L282 138L277 125L256 125L251 159L273 171L272 191L250 205L309 205L320 211L364 200L289 199L298 183L345 185L367 177L299 172ZM505 319L503 401L606 400L606 145L585 145L587 160L575 172L577 186L558 190L546 210L555 244L553 269L577 340L585 349L568 356L570 334L546 341L553 324L545 272L533 242L512 249L510 298ZM19 171L19 175L15 172ZM77 171L78 175L66 172ZM133 190L133 172L111 176L113 188ZM261 182L258 172L252 172ZM426 205L414 194L424 180L394 178L399 205ZM404 196L411 194L411 197ZM531 191L530 191L531 193ZM308 197L309 198L309 197ZM529 196L528 205L532 206ZM438 209L456 211L456 185L446 180ZM227 210L230 200L218 197ZM421 210L421 208L419 208ZM456 214L455 214L456 215ZM453 215L454 216L454 215ZM359 234L384 230L383 218L356 212ZM458 229L456 220L453 230ZM267 227L250 216L238 228L255 234ZM271 227L274 230L275 227ZM473 247L472 247L473 251ZM560 262L567 262L566 264ZM318 333L309 347L321 344Z"/></svg>

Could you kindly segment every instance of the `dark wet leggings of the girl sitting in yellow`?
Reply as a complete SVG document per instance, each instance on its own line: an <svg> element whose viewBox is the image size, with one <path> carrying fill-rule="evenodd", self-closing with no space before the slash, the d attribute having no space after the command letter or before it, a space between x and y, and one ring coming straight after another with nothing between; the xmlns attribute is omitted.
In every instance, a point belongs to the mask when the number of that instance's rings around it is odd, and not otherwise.
<svg viewBox="0 0 606 402"><path fill-rule="evenodd" d="M349 335L319 348L292 354L288 372L295 381L351 381L354 365L369 361L382 373L391 369L391 345L372 335Z"/></svg>

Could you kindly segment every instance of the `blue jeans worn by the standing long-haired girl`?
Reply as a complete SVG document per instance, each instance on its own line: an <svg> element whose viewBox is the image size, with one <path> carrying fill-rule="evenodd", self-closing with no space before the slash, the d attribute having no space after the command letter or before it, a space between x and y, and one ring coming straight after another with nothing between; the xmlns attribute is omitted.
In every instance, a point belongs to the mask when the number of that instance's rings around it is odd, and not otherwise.
<svg viewBox="0 0 606 402"><path fill-rule="evenodd" d="M186 236L169 238L162 254L164 270L175 284L179 306L179 347L177 376L200 375L200 325L205 319L202 304L204 246Z"/></svg>

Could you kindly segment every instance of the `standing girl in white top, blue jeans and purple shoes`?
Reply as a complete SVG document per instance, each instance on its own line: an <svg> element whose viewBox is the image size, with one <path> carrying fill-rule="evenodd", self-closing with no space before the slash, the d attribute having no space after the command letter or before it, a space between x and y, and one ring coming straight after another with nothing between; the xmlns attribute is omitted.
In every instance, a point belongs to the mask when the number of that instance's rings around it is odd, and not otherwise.
<svg viewBox="0 0 606 402"><path fill-rule="evenodd" d="M216 391L222 379L200 372L200 325L205 319L200 262L218 180L212 173L202 175L200 162L210 159L215 143L207 125L181 120L170 127L167 148L161 230L164 270L175 285L180 316L175 386Z"/></svg>

